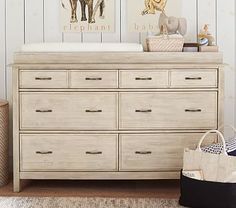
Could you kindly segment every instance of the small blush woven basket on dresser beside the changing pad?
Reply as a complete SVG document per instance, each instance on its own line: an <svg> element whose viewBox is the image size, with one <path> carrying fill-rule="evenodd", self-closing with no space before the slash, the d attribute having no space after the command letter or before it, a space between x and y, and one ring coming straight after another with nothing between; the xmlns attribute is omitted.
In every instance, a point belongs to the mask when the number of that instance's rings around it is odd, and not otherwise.
<svg viewBox="0 0 236 208"><path fill-rule="evenodd" d="M184 38L181 35L150 36L146 39L150 52L182 52Z"/></svg>

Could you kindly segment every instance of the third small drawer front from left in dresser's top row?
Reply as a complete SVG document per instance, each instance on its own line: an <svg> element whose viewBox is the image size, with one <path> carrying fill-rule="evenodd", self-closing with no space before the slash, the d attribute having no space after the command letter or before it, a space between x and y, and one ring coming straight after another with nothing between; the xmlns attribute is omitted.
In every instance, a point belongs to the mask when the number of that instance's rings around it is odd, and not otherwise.
<svg viewBox="0 0 236 208"><path fill-rule="evenodd" d="M120 71L120 88L166 88L168 71Z"/></svg>

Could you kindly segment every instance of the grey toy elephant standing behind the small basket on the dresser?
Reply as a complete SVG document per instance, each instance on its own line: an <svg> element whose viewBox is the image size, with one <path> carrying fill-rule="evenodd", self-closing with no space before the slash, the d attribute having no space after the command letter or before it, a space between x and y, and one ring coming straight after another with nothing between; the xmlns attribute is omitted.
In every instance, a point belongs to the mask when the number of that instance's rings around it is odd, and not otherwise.
<svg viewBox="0 0 236 208"><path fill-rule="evenodd" d="M168 34L181 34L184 36L187 33L187 20L185 18L168 17L164 13L161 13L159 18L159 28L166 26Z"/></svg>

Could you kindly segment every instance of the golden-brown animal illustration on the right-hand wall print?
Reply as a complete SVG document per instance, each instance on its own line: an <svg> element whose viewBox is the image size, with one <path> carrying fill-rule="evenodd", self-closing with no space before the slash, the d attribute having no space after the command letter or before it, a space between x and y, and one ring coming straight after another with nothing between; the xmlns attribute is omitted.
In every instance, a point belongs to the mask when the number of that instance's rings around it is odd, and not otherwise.
<svg viewBox="0 0 236 208"><path fill-rule="evenodd" d="M145 0L145 9L142 15L155 14L156 11L164 12L167 0Z"/></svg>

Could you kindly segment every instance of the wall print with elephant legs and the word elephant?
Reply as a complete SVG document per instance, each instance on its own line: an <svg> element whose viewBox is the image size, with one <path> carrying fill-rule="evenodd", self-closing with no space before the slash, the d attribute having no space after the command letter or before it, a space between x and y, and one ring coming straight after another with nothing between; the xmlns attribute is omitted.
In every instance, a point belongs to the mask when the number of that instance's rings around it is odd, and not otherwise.
<svg viewBox="0 0 236 208"><path fill-rule="evenodd" d="M114 32L116 0L60 0L63 32Z"/></svg>

